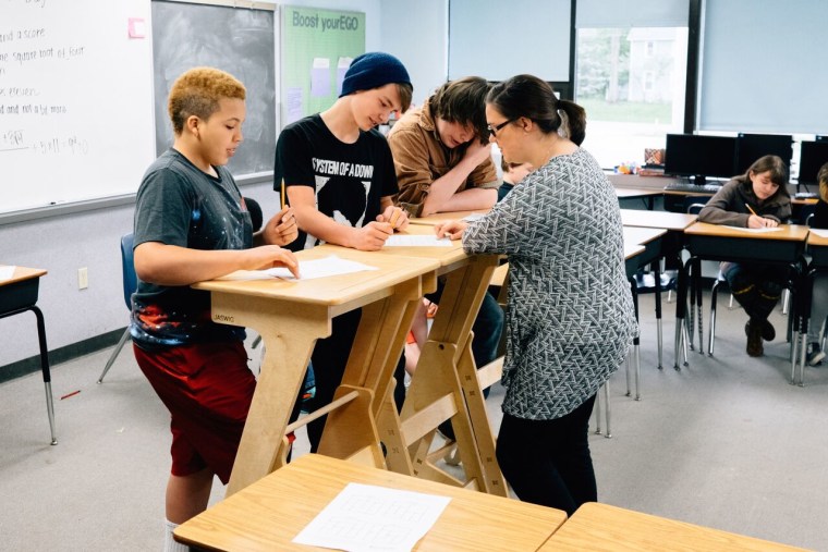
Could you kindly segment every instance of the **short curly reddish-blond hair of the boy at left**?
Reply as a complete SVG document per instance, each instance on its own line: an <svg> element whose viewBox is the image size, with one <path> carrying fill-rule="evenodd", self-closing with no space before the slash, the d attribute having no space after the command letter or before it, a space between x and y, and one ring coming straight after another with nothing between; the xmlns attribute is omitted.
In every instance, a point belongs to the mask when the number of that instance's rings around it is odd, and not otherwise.
<svg viewBox="0 0 828 552"><path fill-rule="evenodd" d="M207 120L224 98L244 100L247 90L233 75L214 68L195 68L175 79L167 109L172 130L180 135L187 118Z"/></svg>

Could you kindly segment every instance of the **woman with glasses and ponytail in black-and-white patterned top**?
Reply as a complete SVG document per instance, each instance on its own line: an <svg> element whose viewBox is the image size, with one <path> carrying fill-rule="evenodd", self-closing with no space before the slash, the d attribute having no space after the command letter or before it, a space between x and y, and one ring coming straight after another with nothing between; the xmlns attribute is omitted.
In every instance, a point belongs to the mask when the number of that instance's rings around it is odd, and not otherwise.
<svg viewBox="0 0 828 552"><path fill-rule="evenodd" d="M519 75L496 85L486 119L507 162L537 169L482 219L437 234L509 257L497 457L521 500L572 515L597 499L587 442L595 394L636 332L618 199L579 147L583 108L546 82Z"/></svg>

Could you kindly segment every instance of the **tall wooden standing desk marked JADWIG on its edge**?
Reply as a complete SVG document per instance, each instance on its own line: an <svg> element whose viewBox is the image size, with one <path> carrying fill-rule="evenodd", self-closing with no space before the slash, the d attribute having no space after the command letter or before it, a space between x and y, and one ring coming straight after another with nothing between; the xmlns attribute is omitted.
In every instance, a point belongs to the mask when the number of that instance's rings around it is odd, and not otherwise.
<svg viewBox="0 0 828 552"><path fill-rule="evenodd" d="M296 254L303 260L330 255L322 248ZM379 270L288 282L212 280L194 284L210 292L212 320L253 328L266 353L228 494L266 476L284 462L284 429L317 339L331 319L363 308L357 338L340 392L357 397L328 416L319 452L383 466L373 413L390 389L417 302L435 285L436 260L399 258L341 248L337 255ZM353 395L351 395L353 396Z"/></svg>

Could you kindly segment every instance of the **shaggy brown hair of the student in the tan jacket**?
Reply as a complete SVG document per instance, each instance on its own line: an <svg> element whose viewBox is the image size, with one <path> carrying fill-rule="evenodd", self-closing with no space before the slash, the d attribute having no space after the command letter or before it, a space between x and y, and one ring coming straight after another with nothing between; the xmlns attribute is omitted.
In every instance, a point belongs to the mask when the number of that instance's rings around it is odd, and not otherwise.
<svg viewBox="0 0 828 552"><path fill-rule="evenodd" d="M489 143L486 126L486 94L489 83L479 76L466 76L440 86L428 99L431 116L463 126L472 125L483 144Z"/></svg>

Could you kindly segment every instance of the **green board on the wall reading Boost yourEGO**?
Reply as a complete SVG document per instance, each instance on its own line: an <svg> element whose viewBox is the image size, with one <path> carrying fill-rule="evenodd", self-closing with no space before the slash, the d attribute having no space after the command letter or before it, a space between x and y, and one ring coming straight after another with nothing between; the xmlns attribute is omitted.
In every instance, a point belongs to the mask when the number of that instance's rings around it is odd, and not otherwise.
<svg viewBox="0 0 828 552"><path fill-rule="evenodd" d="M285 5L281 13L282 123L325 111L348 65L365 52L365 14Z"/></svg>

